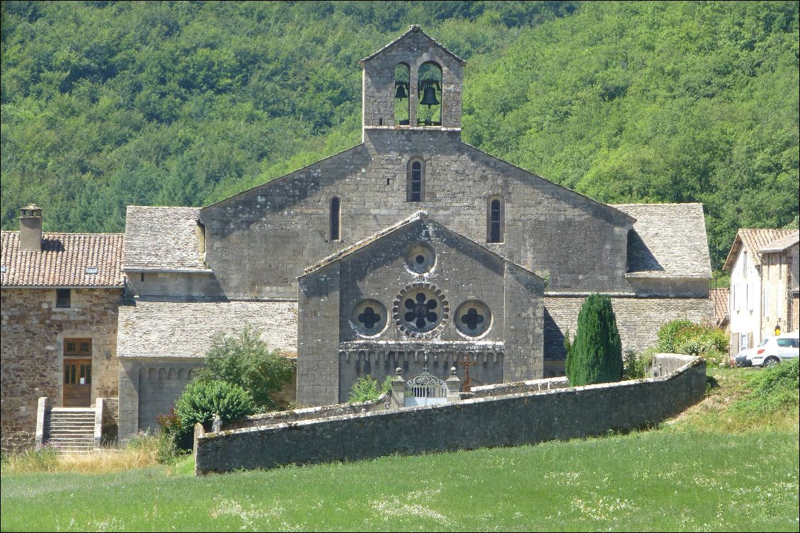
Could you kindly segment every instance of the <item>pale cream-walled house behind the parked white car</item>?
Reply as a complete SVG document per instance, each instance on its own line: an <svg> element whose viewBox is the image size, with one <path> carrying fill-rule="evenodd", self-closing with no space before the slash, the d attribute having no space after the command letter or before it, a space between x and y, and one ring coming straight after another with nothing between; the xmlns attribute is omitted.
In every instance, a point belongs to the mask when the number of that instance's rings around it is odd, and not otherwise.
<svg viewBox="0 0 800 533"><path fill-rule="evenodd" d="M730 271L730 353L798 329L798 230L740 229Z"/></svg>

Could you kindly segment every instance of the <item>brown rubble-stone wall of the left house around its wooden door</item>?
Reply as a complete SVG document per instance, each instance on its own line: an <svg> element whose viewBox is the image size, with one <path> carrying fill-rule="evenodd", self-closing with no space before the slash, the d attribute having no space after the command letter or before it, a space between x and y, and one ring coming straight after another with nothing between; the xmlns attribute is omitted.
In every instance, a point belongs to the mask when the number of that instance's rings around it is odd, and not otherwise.
<svg viewBox="0 0 800 533"><path fill-rule="evenodd" d="M42 396L62 406L64 339L92 339L92 395L118 395L117 315L122 290L74 289L55 307L55 289L6 288L2 300L2 447L32 445Z"/></svg>

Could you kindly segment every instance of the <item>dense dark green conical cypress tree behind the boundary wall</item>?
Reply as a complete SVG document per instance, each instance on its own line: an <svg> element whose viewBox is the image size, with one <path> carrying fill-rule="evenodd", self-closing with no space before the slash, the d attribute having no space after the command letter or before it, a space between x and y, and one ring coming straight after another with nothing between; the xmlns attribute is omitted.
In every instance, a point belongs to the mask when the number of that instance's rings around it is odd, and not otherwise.
<svg viewBox="0 0 800 533"><path fill-rule="evenodd" d="M594 294L583 303L567 357L566 373L573 387L622 379L622 343L610 297Z"/></svg>

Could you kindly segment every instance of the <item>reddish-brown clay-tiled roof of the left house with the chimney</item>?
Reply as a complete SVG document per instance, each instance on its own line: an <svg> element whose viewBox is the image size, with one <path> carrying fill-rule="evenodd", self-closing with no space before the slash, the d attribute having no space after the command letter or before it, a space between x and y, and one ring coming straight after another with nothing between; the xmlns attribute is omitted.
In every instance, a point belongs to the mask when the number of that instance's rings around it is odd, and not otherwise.
<svg viewBox="0 0 800 533"><path fill-rule="evenodd" d="M122 234L45 233L42 251L27 251L3 231L0 271L3 287L125 287Z"/></svg>

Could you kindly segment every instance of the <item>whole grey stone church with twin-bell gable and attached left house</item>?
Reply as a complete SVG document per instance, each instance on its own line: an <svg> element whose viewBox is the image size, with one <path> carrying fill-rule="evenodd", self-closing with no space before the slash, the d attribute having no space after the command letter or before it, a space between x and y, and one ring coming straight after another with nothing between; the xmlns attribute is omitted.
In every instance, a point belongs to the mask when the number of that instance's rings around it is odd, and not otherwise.
<svg viewBox="0 0 800 533"><path fill-rule="evenodd" d="M362 142L202 208L130 206L125 234L2 233L2 432L39 397L118 398L121 439L156 427L211 339L250 325L297 355L302 405L363 375L473 384L560 375L592 292L623 349L709 319L700 204L605 205L461 140L465 62L418 26L361 61Z"/></svg>

